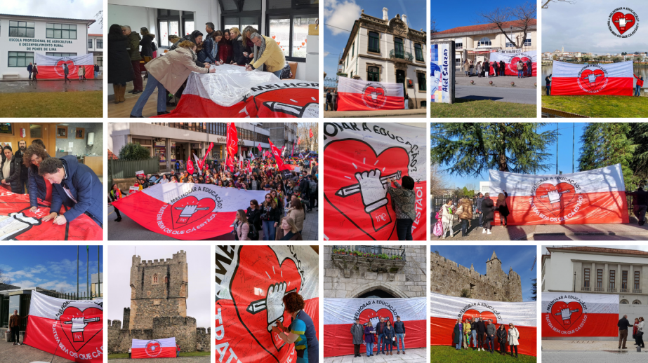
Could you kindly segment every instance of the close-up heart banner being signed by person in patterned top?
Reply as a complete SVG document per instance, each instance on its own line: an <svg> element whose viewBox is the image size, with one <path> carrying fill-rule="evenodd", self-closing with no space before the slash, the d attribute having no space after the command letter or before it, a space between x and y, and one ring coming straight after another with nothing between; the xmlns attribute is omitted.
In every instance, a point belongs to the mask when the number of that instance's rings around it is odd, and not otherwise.
<svg viewBox="0 0 648 363"><path fill-rule="evenodd" d="M324 123L325 240L397 240L387 179L402 183L406 175L414 179L416 196L412 236L427 239L423 130L399 123Z"/></svg>

